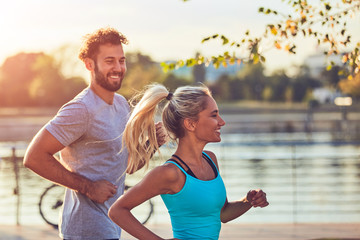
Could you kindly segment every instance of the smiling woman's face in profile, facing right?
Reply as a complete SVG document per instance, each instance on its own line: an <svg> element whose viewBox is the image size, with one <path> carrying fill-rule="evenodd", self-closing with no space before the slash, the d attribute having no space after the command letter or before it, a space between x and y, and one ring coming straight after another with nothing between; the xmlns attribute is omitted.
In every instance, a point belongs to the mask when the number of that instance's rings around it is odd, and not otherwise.
<svg viewBox="0 0 360 240"><path fill-rule="evenodd" d="M206 108L198 115L195 122L195 135L206 143L220 142L220 129L225 121L219 115L219 109L212 97L207 97Z"/></svg>

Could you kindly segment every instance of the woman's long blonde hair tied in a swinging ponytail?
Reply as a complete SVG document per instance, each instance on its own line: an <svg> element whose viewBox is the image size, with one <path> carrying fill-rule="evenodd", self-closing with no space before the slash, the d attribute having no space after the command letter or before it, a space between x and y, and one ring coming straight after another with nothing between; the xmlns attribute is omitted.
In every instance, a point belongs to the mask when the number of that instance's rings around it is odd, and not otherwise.
<svg viewBox="0 0 360 240"><path fill-rule="evenodd" d="M123 133L123 142L129 152L128 169L138 169L143 165L147 167L153 153L159 149L154 117L162 100L169 100L162 111L163 124L169 136L177 140L185 134L183 120L197 120L199 112L206 108L206 97L211 97L206 86L179 87L173 94L169 94L160 84L149 85L133 97L131 102L138 103Z"/></svg>

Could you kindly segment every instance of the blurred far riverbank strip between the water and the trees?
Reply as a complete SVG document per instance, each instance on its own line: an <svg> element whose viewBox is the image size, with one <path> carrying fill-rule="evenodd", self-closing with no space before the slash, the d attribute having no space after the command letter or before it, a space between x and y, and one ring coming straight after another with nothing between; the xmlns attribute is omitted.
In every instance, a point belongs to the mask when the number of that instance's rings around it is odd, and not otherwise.
<svg viewBox="0 0 360 240"><path fill-rule="evenodd" d="M340 132L360 139L360 105L344 111L333 104L309 111L306 104L220 103L223 133ZM0 108L0 141L30 141L58 108ZM339 135L339 134L338 134ZM336 137L337 138L337 137Z"/></svg>

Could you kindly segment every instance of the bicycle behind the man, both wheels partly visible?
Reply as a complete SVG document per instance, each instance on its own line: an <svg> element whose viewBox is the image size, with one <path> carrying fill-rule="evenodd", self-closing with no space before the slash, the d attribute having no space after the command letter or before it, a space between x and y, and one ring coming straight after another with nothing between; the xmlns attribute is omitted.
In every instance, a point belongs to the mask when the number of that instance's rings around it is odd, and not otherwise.
<svg viewBox="0 0 360 240"><path fill-rule="evenodd" d="M125 184L125 192L130 189L131 186ZM42 219L54 227L58 228L59 212L63 205L65 188L57 184L52 184L45 189L40 196L39 201L39 212ZM154 213L154 204L149 199L143 204L137 206L131 212L134 216L142 223L146 224L152 214Z"/></svg>

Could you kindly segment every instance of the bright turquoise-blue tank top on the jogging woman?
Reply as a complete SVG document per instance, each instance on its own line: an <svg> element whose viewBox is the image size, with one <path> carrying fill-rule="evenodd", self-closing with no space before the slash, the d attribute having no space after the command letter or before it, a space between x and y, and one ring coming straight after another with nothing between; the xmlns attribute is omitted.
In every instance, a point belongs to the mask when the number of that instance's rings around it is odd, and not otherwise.
<svg viewBox="0 0 360 240"><path fill-rule="evenodd" d="M210 161L215 166L211 159ZM217 176L204 181L189 175L177 163L168 163L175 164L186 176L185 184L179 192L161 195L170 214L174 238L219 239L220 211L225 204L226 190L216 166Z"/></svg>

